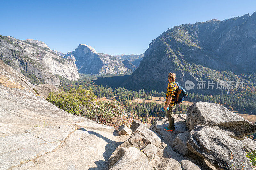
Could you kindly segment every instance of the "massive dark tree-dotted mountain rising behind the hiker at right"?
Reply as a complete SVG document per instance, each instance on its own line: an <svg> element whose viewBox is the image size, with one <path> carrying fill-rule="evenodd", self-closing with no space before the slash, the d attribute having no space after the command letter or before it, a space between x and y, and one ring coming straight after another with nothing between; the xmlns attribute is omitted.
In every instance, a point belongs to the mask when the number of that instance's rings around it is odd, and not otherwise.
<svg viewBox="0 0 256 170"><path fill-rule="evenodd" d="M248 81L248 76L253 79L256 76L255 25L256 12L224 21L213 19L174 26L150 43L140 66L123 85L164 91L169 72L176 73L176 81L182 86L186 80L197 84L200 80ZM248 81L249 84L255 89L255 84ZM214 92L196 87L193 91Z"/></svg>

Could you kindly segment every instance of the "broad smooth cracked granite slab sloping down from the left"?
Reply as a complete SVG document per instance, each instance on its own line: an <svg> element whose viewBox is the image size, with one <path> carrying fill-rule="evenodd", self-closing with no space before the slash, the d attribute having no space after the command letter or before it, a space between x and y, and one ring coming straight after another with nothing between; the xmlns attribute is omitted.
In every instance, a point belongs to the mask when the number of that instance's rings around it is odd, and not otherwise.
<svg viewBox="0 0 256 170"><path fill-rule="evenodd" d="M0 84L0 170L105 169L129 136Z"/></svg>

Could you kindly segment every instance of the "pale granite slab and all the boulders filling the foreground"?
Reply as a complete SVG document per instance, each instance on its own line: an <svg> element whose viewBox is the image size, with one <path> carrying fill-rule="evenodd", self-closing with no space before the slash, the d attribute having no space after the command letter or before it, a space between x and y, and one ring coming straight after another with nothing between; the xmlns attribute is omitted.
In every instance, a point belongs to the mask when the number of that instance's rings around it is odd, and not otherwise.
<svg viewBox="0 0 256 170"><path fill-rule="evenodd" d="M221 105L195 102L187 114L174 115L173 133L159 117L151 127L134 120L118 134L57 108L21 74L1 68L0 170L253 169L245 154L256 142L244 136L256 124Z"/></svg>

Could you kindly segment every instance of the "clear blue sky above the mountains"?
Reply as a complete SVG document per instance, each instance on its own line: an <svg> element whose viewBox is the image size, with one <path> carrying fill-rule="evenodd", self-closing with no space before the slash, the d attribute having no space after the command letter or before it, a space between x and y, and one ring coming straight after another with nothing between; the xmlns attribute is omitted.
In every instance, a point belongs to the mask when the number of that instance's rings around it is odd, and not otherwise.
<svg viewBox="0 0 256 170"><path fill-rule="evenodd" d="M0 34L37 39L67 53L141 54L175 25L252 15L256 1L1 1Z"/></svg>

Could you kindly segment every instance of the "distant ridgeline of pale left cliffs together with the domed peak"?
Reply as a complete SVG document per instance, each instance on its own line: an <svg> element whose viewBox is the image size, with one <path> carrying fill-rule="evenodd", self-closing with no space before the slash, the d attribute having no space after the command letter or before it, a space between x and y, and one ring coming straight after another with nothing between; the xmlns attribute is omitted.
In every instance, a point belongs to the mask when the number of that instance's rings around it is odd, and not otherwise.
<svg viewBox="0 0 256 170"><path fill-rule="evenodd" d="M0 59L25 75L32 84L60 85L60 81L77 80L79 73L95 75L129 75L137 69L140 55L111 56L79 44L64 54L51 50L44 42L19 40L0 35ZM134 63L134 64L133 64Z"/></svg>

